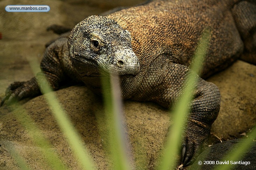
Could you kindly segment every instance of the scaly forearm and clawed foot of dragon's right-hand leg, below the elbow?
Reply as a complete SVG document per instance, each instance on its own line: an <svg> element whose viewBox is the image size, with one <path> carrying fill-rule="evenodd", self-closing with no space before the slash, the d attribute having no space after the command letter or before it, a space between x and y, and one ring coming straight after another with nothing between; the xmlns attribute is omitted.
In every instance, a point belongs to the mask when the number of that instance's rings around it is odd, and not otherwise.
<svg viewBox="0 0 256 170"><path fill-rule="evenodd" d="M190 165L200 154L202 144L209 136L212 123L220 108L218 87L199 78L194 99L189 103L186 129L182 138L182 163Z"/></svg>

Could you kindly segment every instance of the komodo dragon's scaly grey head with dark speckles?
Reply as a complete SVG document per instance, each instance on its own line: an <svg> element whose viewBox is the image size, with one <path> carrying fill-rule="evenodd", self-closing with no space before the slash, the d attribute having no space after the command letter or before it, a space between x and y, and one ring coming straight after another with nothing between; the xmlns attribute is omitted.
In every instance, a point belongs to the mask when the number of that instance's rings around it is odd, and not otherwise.
<svg viewBox="0 0 256 170"><path fill-rule="evenodd" d="M81 76L100 76L102 72L135 76L140 71L129 31L104 16L89 16L79 22L69 35L68 48L69 60Z"/></svg>

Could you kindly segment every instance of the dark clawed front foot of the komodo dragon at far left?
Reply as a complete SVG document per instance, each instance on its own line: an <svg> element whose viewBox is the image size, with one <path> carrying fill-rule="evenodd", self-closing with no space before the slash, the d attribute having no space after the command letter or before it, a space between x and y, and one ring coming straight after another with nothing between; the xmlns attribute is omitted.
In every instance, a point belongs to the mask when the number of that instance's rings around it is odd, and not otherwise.
<svg viewBox="0 0 256 170"><path fill-rule="evenodd" d="M5 97L1 100L0 107L3 106L4 102L11 104L38 94L40 94L40 89L35 77L26 82L14 82L6 89Z"/></svg>

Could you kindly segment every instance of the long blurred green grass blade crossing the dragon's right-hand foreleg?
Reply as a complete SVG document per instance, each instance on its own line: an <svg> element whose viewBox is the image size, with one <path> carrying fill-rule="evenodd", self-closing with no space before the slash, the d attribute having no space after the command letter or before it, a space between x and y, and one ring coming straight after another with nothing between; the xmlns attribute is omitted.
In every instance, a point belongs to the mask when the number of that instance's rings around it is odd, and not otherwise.
<svg viewBox="0 0 256 170"><path fill-rule="evenodd" d="M166 148L164 149L164 153L162 158L160 159L160 164L157 167L159 170L167 170L171 167L174 167L176 164L176 153L178 152L178 146L180 142L180 137L182 134L182 129L184 129L186 122L185 119L188 114L188 103L191 101L191 91L194 90L194 84L196 84L196 79L193 74L198 74L202 63L204 61L209 40L210 40L211 30L205 29L202 33L201 39L198 43L197 49L195 51L195 56L191 63L191 70L190 75L188 75L186 83L184 85L183 94L180 96L176 106L174 107L174 118L170 129L170 133L167 139Z"/></svg>

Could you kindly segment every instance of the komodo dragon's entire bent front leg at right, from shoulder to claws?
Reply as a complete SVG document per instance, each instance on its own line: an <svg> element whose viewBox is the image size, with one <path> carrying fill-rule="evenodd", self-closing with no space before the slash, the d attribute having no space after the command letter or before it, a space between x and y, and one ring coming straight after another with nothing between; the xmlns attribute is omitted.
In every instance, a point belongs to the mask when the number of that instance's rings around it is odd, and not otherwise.
<svg viewBox="0 0 256 170"><path fill-rule="evenodd" d="M137 91L134 98L135 100L155 101L166 108L173 107L183 93L189 72L188 67L159 57L146 71L143 86L139 89L141 92ZM206 141L220 108L218 87L197 75L195 78L198 82L195 90L191 91L194 98L188 104L190 112L182 135L181 151L184 166L193 163L199 155L201 146Z"/></svg>

